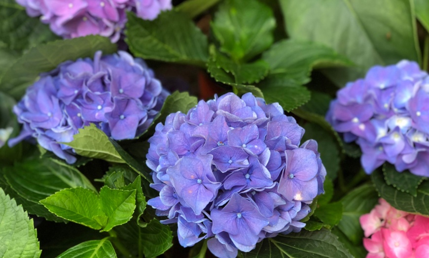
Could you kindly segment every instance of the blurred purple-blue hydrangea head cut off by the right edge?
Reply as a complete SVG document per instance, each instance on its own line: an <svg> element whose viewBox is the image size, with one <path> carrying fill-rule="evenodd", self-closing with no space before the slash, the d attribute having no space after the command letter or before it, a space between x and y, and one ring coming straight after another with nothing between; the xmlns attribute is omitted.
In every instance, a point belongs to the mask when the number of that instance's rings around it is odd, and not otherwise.
<svg viewBox="0 0 429 258"><path fill-rule="evenodd" d="M326 120L360 146L366 173L388 161L429 176L429 77L418 64L372 67L338 91Z"/></svg>

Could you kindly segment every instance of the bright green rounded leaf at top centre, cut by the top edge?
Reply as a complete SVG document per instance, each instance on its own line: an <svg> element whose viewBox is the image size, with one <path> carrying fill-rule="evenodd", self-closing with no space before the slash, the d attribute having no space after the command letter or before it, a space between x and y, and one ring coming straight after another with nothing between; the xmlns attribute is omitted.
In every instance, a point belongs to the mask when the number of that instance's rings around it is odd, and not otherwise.
<svg viewBox="0 0 429 258"><path fill-rule="evenodd" d="M226 0L215 13L212 30L220 51L239 61L269 48L275 26L273 11L267 5L257 0Z"/></svg>

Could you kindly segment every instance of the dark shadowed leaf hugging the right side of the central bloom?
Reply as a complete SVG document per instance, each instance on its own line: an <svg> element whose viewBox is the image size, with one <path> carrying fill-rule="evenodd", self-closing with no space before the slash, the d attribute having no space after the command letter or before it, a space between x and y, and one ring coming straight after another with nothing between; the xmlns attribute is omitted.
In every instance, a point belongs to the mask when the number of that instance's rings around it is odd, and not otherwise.
<svg viewBox="0 0 429 258"><path fill-rule="evenodd" d="M304 124L305 133L301 142L314 139L329 178L336 179L340 168L340 152L334 136L315 123Z"/></svg>

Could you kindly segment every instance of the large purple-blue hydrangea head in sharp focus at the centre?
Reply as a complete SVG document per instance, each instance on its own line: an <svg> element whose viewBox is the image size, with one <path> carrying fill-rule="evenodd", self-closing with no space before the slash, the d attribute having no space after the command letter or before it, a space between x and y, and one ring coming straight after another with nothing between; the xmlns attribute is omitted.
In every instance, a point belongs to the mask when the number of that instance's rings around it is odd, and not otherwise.
<svg viewBox="0 0 429 258"><path fill-rule="evenodd" d="M304 129L278 104L248 93L201 100L170 114L149 139L153 170L148 204L179 242L208 240L217 257L236 257L279 233L300 231L326 170L317 142L299 146Z"/></svg>

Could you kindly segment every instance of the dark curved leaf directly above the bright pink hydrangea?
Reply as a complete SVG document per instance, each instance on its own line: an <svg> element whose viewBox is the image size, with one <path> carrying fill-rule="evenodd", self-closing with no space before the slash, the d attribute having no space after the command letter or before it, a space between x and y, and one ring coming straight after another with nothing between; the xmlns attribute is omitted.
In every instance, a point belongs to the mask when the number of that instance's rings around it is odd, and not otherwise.
<svg viewBox="0 0 429 258"><path fill-rule="evenodd" d="M429 181L423 182L417 189L417 196L398 191L384 180L383 172L375 170L371 175L380 197L394 208L410 213L429 216Z"/></svg>

